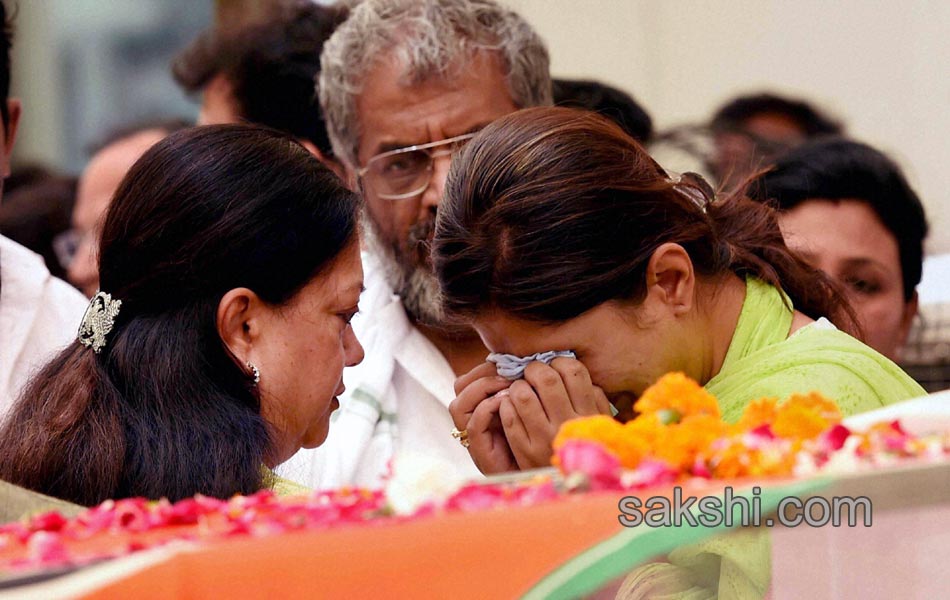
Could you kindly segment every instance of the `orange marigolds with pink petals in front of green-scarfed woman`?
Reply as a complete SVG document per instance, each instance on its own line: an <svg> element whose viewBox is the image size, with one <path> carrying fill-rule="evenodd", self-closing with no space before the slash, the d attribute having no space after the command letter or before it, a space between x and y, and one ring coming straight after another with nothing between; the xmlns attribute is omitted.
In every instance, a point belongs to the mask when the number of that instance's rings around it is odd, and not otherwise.
<svg viewBox="0 0 950 600"><path fill-rule="evenodd" d="M837 405L817 392L753 401L729 424L716 399L682 373L662 377L634 410L624 424L606 416L564 423L554 463L564 473L585 473L594 487L625 488L690 477L807 475L950 453L950 436L914 437L896 421L853 432L841 424Z"/></svg>

